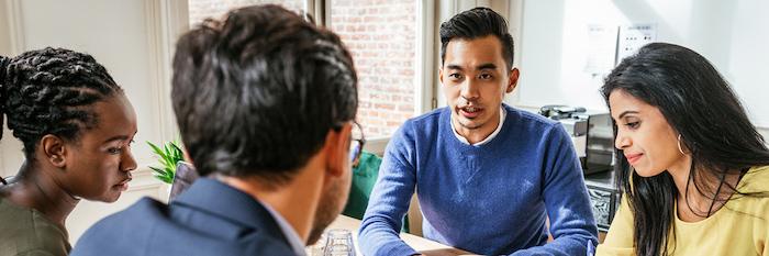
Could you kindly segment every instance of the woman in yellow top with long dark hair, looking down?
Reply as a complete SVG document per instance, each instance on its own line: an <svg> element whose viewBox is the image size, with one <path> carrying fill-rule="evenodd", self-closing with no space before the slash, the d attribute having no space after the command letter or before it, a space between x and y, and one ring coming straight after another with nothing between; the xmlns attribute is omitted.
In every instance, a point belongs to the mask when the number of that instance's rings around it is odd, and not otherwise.
<svg viewBox="0 0 769 256"><path fill-rule="evenodd" d="M704 57L649 44L601 90L624 194L598 255L769 255L769 151Z"/></svg>

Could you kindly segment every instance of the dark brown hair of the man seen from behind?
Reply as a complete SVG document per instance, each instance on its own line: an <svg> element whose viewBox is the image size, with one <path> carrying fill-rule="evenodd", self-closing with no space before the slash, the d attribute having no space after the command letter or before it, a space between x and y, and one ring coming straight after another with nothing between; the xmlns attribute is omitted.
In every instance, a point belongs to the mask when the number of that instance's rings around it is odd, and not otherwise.
<svg viewBox="0 0 769 256"><path fill-rule="evenodd" d="M201 176L288 181L358 108L339 37L272 4L233 10L181 36L172 87Z"/></svg>

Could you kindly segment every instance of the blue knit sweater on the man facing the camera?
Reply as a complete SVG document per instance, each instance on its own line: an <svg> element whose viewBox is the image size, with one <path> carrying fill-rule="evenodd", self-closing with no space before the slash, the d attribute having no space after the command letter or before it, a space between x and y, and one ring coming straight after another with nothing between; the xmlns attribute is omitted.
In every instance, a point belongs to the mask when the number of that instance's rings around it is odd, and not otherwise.
<svg viewBox="0 0 769 256"><path fill-rule="evenodd" d="M557 122L503 108L502 130L480 146L457 140L448 108L400 127L360 226L364 255L416 254L398 236L414 189L426 238L484 255L584 255L597 227L569 135Z"/></svg>

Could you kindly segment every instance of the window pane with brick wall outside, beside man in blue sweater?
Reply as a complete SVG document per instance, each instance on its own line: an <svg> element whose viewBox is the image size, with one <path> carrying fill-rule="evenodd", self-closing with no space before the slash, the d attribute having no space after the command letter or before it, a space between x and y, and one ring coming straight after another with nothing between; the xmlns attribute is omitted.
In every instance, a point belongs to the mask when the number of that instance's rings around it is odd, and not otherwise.
<svg viewBox="0 0 769 256"><path fill-rule="evenodd" d="M353 53L358 121L366 137L390 136L415 107L416 0L331 0L331 29Z"/></svg>

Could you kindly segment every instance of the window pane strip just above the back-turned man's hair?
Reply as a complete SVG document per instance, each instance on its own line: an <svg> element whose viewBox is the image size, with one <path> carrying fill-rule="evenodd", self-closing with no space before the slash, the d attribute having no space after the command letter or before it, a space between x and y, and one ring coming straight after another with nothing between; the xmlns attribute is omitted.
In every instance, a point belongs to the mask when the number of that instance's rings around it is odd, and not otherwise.
<svg viewBox="0 0 769 256"><path fill-rule="evenodd" d="M188 3L190 26L207 18L220 18L232 9L246 5L276 3L298 13L304 9L304 0L188 0Z"/></svg>

